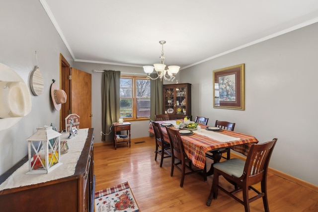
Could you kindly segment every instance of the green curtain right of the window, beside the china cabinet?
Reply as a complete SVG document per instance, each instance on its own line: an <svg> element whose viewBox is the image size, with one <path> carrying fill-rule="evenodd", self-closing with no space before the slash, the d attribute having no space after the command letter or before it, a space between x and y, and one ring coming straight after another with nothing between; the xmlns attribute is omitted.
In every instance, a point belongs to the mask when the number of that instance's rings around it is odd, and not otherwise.
<svg viewBox="0 0 318 212"><path fill-rule="evenodd" d="M157 74L151 75L155 78ZM163 103L162 103L162 81L160 79L151 80L150 82L150 120L155 120L155 114L162 114Z"/></svg>

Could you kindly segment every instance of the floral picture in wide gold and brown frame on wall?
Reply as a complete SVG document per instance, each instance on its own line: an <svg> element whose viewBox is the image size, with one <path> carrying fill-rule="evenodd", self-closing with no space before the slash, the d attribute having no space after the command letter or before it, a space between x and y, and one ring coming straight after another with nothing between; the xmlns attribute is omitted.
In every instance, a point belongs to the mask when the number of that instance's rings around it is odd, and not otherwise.
<svg viewBox="0 0 318 212"><path fill-rule="evenodd" d="M244 64L213 71L213 107L245 109Z"/></svg>

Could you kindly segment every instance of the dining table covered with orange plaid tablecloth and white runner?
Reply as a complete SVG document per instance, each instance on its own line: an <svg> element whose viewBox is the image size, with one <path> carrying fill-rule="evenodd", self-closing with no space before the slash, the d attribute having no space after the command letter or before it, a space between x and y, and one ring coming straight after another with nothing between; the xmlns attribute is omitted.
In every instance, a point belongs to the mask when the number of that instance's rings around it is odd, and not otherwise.
<svg viewBox="0 0 318 212"><path fill-rule="evenodd" d="M161 126L163 139L168 142L169 137L166 131L166 127L172 127L175 130L181 130L177 129L178 126L176 125L176 120L156 122L158 122ZM258 143L258 140L251 135L224 129L220 129L220 131L213 131L210 130L212 129L211 127L202 124L198 124L198 126L200 126L200 130L192 130L193 134L180 134L180 136L183 142L184 152L192 161L193 165L203 169L206 165L206 158L213 158L214 161L211 164L211 168L207 171L208 176L213 174L213 164L221 160L222 152L220 151L220 149L231 147L234 150L247 155L249 149L248 147L252 143ZM148 132L154 134L154 129L151 123L149 124Z"/></svg>

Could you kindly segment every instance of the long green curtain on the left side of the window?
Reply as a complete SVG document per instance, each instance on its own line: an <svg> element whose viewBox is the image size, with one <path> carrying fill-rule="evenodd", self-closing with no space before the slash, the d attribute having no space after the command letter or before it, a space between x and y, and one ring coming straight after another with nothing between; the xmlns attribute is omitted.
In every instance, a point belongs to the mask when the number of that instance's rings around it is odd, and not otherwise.
<svg viewBox="0 0 318 212"><path fill-rule="evenodd" d="M102 78L102 141L114 141L112 124L120 118L120 71L104 70Z"/></svg>

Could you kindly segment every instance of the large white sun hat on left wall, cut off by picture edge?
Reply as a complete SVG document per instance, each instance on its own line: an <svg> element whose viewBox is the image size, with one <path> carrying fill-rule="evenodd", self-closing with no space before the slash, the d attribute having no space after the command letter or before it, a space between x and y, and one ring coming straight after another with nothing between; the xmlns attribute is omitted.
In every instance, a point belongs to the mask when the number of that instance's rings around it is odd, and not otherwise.
<svg viewBox="0 0 318 212"><path fill-rule="evenodd" d="M16 124L31 108L28 86L15 71L0 63L0 131Z"/></svg>

